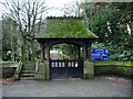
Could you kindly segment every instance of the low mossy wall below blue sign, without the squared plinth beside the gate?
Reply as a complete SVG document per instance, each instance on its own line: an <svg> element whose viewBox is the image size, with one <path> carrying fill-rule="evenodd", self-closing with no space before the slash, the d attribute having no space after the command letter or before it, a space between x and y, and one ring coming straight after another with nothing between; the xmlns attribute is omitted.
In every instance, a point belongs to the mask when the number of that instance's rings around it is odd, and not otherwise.
<svg viewBox="0 0 133 99"><path fill-rule="evenodd" d="M133 62L94 62L95 74L133 76Z"/></svg>

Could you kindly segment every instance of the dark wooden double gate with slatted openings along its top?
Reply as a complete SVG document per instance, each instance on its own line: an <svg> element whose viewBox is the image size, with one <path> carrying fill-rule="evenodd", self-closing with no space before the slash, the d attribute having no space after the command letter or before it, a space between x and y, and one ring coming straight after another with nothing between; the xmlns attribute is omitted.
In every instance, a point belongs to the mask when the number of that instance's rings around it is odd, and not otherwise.
<svg viewBox="0 0 133 99"><path fill-rule="evenodd" d="M50 59L50 79L82 77L83 59Z"/></svg>

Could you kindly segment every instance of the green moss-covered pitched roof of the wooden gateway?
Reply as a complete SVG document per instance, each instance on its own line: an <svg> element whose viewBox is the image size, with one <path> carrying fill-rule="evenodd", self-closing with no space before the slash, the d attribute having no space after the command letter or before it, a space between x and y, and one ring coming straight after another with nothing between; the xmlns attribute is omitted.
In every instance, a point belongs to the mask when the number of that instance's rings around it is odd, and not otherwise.
<svg viewBox="0 0 133 99"><path fill-rule="evenodd" d="M47 28L35 38L98 38L84 25L82 18L47 18Z"/></svg>

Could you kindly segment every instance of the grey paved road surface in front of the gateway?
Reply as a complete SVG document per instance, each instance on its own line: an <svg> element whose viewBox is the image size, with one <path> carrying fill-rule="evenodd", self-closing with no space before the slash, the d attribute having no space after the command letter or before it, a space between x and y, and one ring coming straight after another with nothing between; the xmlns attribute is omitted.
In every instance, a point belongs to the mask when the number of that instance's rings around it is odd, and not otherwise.
<svg viewBox="0 0 133 99"><path fill-rule="evenodd" d="M115 80L114 80L115 79ZM19 80L2 86L3 97L130 97L131 80L115 76L94 79Z"/></svg>

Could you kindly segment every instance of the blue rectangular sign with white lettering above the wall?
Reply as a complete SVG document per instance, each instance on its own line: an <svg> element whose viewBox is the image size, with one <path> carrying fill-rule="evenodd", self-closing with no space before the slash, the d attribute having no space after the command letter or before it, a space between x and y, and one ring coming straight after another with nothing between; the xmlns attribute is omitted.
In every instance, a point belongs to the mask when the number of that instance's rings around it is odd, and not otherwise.
<svg viewBox="0 0 133 99"><path fill-rule="evenodd" d="M91 59L92 61L105 61L109 58L108 48L92 48Z"/></svg>

